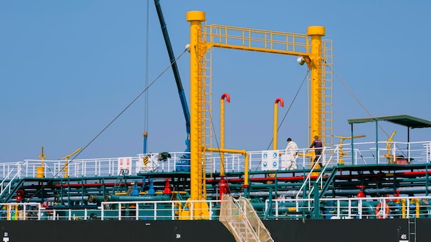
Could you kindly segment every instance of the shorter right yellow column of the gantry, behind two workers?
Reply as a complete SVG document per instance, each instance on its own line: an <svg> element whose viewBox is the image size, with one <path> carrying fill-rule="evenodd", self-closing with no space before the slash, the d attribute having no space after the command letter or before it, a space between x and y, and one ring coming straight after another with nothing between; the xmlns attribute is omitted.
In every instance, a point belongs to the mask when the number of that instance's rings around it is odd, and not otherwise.
<svg viewBox="0 0 431 242"><path fill-rule="evenodd" d="M311 37L311 108L310 108L310 140L315 135L322 137L322 36L325 36L323 26L309 26L307 35Z"/></svg>

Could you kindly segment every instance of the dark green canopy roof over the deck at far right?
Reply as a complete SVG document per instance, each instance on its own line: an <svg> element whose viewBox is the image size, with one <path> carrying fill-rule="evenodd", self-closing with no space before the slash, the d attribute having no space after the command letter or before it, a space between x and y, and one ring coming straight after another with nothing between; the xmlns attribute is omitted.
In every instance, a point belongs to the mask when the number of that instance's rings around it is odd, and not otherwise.
<svg viewBox="0 0 431 242"><path fill-rule="evenodd" d="M410 115L392 115L392 116L379 116L370 118L354 118L347 120L349 124L358 124L362 122L375 122L375 121L388 121L395 124L407 126L409 128L430 128L431 121L423 120L421 118L412 117Z"/></svg>

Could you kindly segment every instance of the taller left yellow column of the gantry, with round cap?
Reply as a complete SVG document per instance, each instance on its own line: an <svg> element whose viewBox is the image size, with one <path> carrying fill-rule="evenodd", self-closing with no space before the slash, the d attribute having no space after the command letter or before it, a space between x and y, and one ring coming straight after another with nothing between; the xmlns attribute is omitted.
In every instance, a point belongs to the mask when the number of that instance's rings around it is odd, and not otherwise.
<svg viewBox="0 0 431 242"><path fill-rule="evenodd" d="M191 200L202 200L202 47L200 46L201 23L205 12L189 11L186 20L190 22L190 196Z"/></svg>

